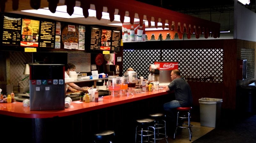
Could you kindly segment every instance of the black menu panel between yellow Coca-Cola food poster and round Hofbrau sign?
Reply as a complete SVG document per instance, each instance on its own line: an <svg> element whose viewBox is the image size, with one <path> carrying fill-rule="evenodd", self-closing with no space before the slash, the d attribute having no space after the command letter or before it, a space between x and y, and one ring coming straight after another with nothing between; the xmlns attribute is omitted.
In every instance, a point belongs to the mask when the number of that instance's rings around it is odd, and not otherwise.
<svg viewBox="0 0 256 143"><path fill-rule="evenodd" d="M41 21L40 47L54 48L55 22Z"/></svg>

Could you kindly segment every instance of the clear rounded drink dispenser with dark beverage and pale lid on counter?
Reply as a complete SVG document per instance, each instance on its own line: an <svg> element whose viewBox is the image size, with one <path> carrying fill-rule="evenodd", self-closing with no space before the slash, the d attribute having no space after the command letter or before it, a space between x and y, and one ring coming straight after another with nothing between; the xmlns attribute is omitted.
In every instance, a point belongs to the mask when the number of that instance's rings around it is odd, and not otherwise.
<svg viewBox="0 0 256 143"><path fill-rule="evenodd" d="M124 77L128 79L126 82L128 84L128 94L135 93L135 86L138 80L137 72L135 71L126 71Z"/></svg>

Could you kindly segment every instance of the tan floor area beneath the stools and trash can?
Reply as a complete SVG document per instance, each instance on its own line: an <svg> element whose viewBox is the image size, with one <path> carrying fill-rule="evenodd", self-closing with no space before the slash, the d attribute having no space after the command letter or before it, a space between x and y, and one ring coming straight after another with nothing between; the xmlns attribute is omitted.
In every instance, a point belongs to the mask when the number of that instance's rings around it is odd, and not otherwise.
<svg viewBox="0 0 256 143"><path fill-rule="evenodd" d="M175 140L173 139L173 136L168 137L168 142L169 143L190 143L214 129L213 127L201 126L200 123L198 122L191 122L191 124L193 125L193 127L191 128L192 130L191 141L189 141L188 129L182 129L182 132L176 136ZM166 140L160 140L159 143L166 143Z"/></svg>

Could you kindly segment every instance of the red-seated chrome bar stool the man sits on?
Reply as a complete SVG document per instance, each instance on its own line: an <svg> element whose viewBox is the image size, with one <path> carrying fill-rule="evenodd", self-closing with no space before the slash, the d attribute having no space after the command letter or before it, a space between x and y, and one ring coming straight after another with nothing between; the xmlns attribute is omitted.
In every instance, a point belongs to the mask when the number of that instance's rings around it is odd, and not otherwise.
<svg viewBox="0 0 256 143"><path fill-rule="evenodd" d="M178 128L188 128L189 130L189 141L191 141L192 138L192 131L191 131L191 127L193 127L193 125L190 124L190 110L192 109L192 107L178 107L176 108L176 110L178 110L177 112L177 124L176 124L176 130L174 133L174 139L177 133L177 129ZM187 113L187 114L186 114ZM179 123L179 119L188 119L188 123ZM187 125L187 126L183 126L183 125Z"/></svg>

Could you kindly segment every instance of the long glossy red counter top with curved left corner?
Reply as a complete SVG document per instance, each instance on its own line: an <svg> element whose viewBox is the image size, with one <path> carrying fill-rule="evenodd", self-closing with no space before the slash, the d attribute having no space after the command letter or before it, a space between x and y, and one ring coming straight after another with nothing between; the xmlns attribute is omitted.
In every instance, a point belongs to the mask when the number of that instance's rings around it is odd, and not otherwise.
<svg viewBox="0 0 256 143"><path fill-rule="evenodd" d="M85 103L80 101L73 101L71 104L73 107L65 108L64 110L30 111L29 107L23 107L22 102L0 103L0 114L20 118L52 118L56 116L63 117L165 94L168 94L168 92L165 90L159 90L153 92L137 93L129 96L112 97L109 95L104 96L103 101L99 102Z"/></svg>

